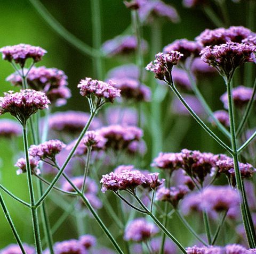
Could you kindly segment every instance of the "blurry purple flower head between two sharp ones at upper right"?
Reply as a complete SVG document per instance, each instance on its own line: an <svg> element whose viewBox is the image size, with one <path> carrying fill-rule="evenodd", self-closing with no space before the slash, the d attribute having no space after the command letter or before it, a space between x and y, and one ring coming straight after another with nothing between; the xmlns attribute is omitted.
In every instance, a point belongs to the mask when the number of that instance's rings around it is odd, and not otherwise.
<svg viewBox="0 0 256 254"><path fill-rule="evenodd" d="M193 55L193 56L199 56L199 53L202 49L202 46L199 45L195 41L190 41L187 39L179 39L174 40L173 43L167 45L163 49L163 53L168 54L172 51L178 51L181 54L181 61L185 61L187 57Z"/></svg>

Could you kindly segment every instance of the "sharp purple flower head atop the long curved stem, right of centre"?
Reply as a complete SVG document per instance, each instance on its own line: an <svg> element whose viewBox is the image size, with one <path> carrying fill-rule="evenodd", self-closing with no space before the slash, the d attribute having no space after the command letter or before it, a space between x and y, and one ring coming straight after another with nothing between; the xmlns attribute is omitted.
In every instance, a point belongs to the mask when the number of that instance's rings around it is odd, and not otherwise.
<svg viewBox="0 0 256 254"><path fill-rule="evenodd" d="M155 73L155 78L172 83L171 71L174 65L177 65L183 56L178 51L170 51L167 54L158 53L155 55L156 60L150 62L146 70Z"/></svg>

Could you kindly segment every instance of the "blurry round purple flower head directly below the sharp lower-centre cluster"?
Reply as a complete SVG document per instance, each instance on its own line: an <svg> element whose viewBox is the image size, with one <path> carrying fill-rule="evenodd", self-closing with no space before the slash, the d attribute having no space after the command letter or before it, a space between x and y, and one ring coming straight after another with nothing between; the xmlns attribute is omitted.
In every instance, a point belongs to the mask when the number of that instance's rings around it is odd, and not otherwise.
<svg viewBox="0 0 256 254"><path fill-rule="evenodd" d="M126 226L124 240L135 242L147 241L157 234L158 231L158 228L145 218L137 218Z"/></svg>

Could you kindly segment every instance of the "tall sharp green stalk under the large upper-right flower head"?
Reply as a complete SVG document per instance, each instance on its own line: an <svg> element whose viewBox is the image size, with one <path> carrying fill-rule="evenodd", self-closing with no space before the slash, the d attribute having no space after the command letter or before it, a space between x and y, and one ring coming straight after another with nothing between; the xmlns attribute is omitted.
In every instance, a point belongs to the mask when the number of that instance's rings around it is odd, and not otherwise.
<svg viewBox="0 0 256 254"><path fill-rule="evenodd" d="M244 189L244 184L242 181L241 172L239 170L235 118L234 118L234 101L232 98L232 82L231 82L231 79L228 79L228 78L225 78L225 82L226 82L227 92L228 92L228 112L229 112L229 122L230 122L231 146L233 149L232 157L234 160L234 171L235 171L237 189L241 197L240 207L241 207L243 223L245 227L247 240L249 242L249 246L250 248L256 248L256 244L255 244L256 235L255 235L254 226L252 223L252 217L249 210L249 206L247 204L247 198L246 198L246 193Z"/></svg>

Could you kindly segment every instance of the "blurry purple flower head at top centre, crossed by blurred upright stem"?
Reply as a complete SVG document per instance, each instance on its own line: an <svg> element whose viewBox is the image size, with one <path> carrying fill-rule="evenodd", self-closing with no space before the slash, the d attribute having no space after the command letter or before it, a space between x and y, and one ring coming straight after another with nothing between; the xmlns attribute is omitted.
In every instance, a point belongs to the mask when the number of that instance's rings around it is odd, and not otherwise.
<svg viewBox="0 0 256 254"><path fill-rule="evenodd" d="M108 56L127 55L135 52L138 48L137 38L131 35L117 36L114 39L105 41L102 45L103 52ZM146 40L141 41L143 52L147 51Z"/></svg>

